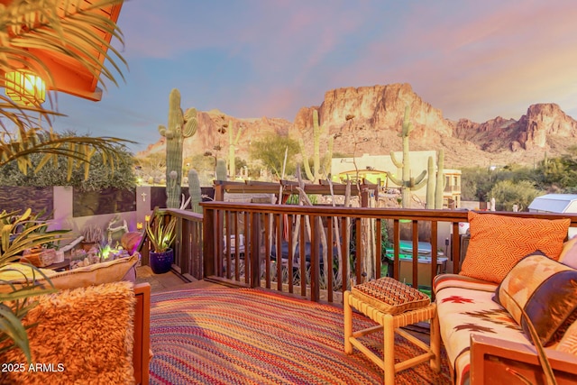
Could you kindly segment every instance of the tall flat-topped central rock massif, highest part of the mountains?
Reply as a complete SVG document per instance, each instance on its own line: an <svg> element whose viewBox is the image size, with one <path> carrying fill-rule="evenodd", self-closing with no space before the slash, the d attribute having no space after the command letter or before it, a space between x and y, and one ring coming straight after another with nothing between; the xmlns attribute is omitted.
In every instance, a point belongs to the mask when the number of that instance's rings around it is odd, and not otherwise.
<svg viewBox="0 0 577 385"><path fill-rule="evenodd" d="M443 138L453 136L453 124L443 118L440 110L417 96L408 84L328 91L320 106L303 107L298 111L291 133L294 137L312 137L312 111L317 109L325 135L337 135L334 153L388 154L401 148L398 133L406 105L411 108L414 126L410 134L411 150L436 150L442 147ZM347 115L354 115L354 118L347 121ZM312 151L313 142L305 143L307 150Z"/></svg>

